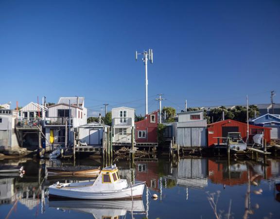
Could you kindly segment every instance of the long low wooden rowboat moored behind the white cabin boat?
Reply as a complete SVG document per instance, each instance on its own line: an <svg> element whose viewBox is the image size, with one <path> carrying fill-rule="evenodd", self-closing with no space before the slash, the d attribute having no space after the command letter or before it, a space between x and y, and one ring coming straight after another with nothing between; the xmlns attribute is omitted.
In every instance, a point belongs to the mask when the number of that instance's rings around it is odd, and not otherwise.
<svg viewBox="0 0 280 219"><path fill-rule="evenodd" d="M63 167L47 167L48 174L63 175L98 175L100 166L63 166Z"/></svg>

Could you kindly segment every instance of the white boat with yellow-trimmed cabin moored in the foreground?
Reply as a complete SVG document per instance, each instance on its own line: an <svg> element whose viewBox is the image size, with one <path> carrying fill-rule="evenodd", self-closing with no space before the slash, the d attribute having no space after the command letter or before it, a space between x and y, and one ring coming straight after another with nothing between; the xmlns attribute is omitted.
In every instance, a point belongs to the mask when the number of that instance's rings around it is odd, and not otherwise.
<svg viewBox="0 0 280 219"><path fill-rule="evenodd" d="M86 183L55 183L49 187L50 197L112 200L142 198L145 182L127 184L120 179L116 165L105 167L95 181Z"/></svg>

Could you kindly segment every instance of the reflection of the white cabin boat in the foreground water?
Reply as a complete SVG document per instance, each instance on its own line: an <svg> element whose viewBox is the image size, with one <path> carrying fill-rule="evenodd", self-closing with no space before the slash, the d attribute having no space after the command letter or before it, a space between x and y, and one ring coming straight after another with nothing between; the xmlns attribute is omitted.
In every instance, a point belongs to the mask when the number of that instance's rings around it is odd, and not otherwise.
<svg viewBox="0 0 280 219"><path fill-rule="evenodd" d="M145 214L142 200L128 201L49 201L49 206L92 214L95 219L118 219L127 212Z"/></svg>

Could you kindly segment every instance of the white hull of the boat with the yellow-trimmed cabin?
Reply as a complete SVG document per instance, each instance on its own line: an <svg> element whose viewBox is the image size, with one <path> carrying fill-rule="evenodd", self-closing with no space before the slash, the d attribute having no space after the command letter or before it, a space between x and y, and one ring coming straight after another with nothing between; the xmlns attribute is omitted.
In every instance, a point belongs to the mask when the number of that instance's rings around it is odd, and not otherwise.
<svg viewBox="0 0 280 219"><path fill-rule="evenodd" d="M121 200L142 198L144 187L144 183L138 183L136 185L132 185L132 187L128 186L122 190L97 192L94 191L93 186L59 188L54 184L49 187L49 197L81 200Z"/></svg>

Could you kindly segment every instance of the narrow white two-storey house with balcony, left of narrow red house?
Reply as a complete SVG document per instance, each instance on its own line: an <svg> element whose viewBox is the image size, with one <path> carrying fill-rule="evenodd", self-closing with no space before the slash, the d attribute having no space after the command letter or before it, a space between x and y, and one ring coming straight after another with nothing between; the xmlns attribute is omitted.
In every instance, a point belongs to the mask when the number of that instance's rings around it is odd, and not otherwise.
<svg viewBox="0 0 280 219"><path fill-rule="evenodd" d="M112 109L112 143L114 146L131 146L135 109L119 107Z"/></svg>

